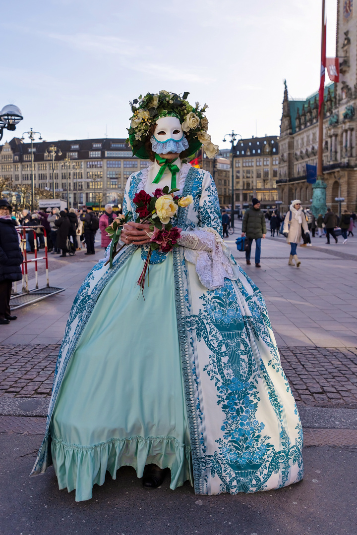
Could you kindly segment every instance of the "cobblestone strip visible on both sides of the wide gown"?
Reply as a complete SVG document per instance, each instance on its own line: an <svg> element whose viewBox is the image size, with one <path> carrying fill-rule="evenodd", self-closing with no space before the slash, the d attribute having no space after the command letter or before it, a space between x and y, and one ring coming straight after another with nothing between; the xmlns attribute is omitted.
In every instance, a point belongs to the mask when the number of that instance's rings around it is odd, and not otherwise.
<svg viewBox="0 0 357 535"><path fill-rule="evenodd" d="M49 396L58 344L3 345L0 396ZM344 348L280 349L283 368L300 405L357 408L357 351Z"/></svg>

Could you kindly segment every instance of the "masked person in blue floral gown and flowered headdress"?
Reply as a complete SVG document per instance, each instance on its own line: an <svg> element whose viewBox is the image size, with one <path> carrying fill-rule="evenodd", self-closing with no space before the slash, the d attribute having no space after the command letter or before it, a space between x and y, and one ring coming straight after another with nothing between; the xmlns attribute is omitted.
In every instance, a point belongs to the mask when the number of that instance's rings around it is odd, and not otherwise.
<svg viewBox="0 0 357 535"><path fill-rule="evenodd" d="M170 469L172 490L188 480L208 495L302 479L302 427L263 297L222 239L211 175L185 161L201 144L208 157L218 151L207 105L187 96L133 101L133 155L150 160L127 181L123 214L133 221L112 268L102 261L83 282L59 350L32 475L53 462L77 501L123 465L147 487ZM166 186L193 202L178 209L179 246L151 254L143 299L150 227L133 198Z"/></svg>

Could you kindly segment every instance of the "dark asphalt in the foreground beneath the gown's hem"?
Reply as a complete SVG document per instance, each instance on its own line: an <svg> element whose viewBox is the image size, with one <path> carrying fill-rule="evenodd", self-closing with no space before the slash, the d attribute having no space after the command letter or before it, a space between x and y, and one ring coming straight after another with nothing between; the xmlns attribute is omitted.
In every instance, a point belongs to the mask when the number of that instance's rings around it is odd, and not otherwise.
<svg viewBox="0 0 357 535"><path fill-rule="evenodd" d="M355 447L304 448L301 483L256 494L195 495L169 481L145 489L132 468L76 503L53 467L29 478L40 435L0 434L2 535L356 535Z"/></svg>

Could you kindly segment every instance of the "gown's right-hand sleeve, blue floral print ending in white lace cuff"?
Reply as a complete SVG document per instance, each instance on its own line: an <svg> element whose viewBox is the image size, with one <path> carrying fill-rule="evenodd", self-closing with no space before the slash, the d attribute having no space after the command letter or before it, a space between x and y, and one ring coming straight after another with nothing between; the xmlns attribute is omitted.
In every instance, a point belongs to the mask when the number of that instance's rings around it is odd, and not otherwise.
<svg viewBox="0 0 357 535"><path fill-rule="evenodd" d="M239 267L222 238L222 218L216 185L207 171L199 200L199 226L181 232L177 242L184 247L187 262L195 265L203 286L210 290L224 286L224 279L237 280Z"/></svg>

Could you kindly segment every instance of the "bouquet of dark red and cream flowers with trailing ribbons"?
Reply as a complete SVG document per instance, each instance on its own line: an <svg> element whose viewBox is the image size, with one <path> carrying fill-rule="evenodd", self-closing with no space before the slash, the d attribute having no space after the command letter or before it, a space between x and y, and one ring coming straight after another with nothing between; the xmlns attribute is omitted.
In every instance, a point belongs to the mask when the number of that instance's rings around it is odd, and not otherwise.
<svg viewBox="0 0 357 535"><path fill-rule="evenodd" d="M149 195L145 190L141 190L133 198L132 204L135 204L135 212L138 215L136 223L148 223L150 225L149 251L146 257L144 268L138 280L138 285L143 292L145 286L145 275L149 268L151 253L154 250L169 253L174 247L178 247L177 240L180 238L181 228L174 225L177 218L179 207L187 207L193 202L192 195L178 196L174 195L178 189L169 190L168 186L163 189L157 188L153 195ZM123 226L128 221L133 220L131 212L125 216L119 215L105 231L112 238L110 245L109 264L113 265L113 258L119 253L125 244L117 250L117 244L120 239ZM107 262L107 264L108 264Z"/></svg>

